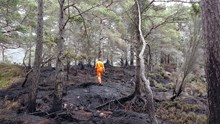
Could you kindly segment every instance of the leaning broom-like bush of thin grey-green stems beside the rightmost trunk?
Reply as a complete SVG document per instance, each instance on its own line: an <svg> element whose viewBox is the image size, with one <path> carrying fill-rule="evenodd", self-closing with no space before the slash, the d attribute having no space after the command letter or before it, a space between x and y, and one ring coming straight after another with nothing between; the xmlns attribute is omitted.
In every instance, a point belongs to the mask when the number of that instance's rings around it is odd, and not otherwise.
<svg viewBox="0 0 220 124"><path fill-rule="evenodd" d="M190 40L189 44L187 46L187 50L184 57L184 62L182 64L182 67L180 70L178 70L178 76L176 77L176 84L174 87L173 97L171 100L174 100L176 97L178 97L181 92L185 88L186 79L188 75L192 72L193 67L196 63L197 55L198 55L198 49L200 45L200 31L201 31L201 20L199 14L192 14L193 17L193 26L191 26L190 31ZM168 60L169 60L169 54L168 54ZM169 61L168 61L169 64Z"/></svg>

